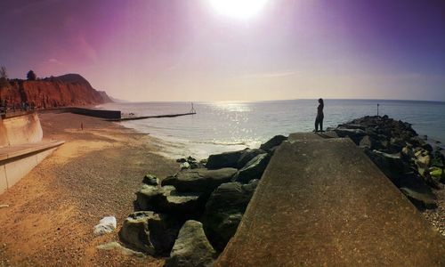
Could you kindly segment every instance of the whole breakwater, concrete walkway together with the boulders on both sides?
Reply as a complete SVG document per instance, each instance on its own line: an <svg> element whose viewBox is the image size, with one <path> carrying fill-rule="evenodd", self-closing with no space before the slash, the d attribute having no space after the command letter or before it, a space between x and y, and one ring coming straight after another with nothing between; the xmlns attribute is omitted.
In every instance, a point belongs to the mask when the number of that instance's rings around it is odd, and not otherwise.
<svg viewBox="0 0 445 267"><path fill-rule="evenodd" d="M441 153L388 117L330 130L183 158L162 182L147 175L121 239L169 255L168 266L220 254L218 266L445 263L443 238L417 211L435 207Z"/></svg>

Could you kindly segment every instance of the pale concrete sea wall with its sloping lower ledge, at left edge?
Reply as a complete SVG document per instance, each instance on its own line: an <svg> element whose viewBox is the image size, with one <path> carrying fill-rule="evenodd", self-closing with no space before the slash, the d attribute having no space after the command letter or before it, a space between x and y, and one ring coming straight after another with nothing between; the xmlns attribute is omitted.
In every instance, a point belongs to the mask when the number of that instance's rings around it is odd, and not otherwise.
<svg viewBox="0 0 445 267"><path fill-rule="evenodd" d="M0 120L0 194L28 174L61 141L44 141L35 112Z"/></svg>

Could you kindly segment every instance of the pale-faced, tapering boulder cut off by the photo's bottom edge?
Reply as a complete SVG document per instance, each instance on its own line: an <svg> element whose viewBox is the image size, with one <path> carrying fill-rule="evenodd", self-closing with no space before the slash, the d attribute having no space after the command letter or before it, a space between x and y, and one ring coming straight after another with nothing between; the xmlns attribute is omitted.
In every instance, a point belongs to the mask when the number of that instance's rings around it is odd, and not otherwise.
<svg viewBox="0 0 445 267"><path fill-rule="evenodd" d="M204 233L202 223L187 221L166 260L166 267L212 266L216 252Z"/></svg>

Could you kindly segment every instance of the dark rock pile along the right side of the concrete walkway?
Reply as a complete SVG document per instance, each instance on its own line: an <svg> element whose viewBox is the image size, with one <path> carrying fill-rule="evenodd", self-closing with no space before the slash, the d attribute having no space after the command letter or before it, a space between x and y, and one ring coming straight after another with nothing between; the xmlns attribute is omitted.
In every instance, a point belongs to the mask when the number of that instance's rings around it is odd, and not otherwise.
<svg viewBox="0 0 445 267"><path fill-rule="evenodd" d="M441 147L433 148L409 123L367 116L328 130L351 138L417 208L436 207L432 189L445 182Z"/></svg>

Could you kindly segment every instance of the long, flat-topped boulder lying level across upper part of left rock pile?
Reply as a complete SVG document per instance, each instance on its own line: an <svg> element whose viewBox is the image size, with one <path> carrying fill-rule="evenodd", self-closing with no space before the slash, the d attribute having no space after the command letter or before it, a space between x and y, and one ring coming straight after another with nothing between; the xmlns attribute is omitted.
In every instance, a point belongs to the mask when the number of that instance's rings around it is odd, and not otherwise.
<svg viewBox="0 0 445 267"><path fill-rule="evenodd" d="M237 171L235 168L182 170L174 176L166 177L162 185L173 185L180 192L212 192L220 184L231 182Z"/></svg>

